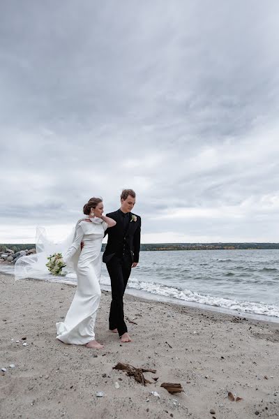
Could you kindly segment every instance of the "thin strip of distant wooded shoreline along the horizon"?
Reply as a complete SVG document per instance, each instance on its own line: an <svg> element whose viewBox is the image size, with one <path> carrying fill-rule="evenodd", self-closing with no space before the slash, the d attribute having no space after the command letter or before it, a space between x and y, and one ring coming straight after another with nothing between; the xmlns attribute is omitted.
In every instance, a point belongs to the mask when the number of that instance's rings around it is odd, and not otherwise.
<svg viewBox="0 0 279 419"><path fill-rule="evenodd" d="M36 244L32 243L10 243L0 244L0 251L13 249L20 251L33 249ZM102 251L105 244L102 246ZM174 250L277 250L279 243L258 243L258 242L239 242L239 243L149 243L142 244L141 251L174 251Z"/></svg>

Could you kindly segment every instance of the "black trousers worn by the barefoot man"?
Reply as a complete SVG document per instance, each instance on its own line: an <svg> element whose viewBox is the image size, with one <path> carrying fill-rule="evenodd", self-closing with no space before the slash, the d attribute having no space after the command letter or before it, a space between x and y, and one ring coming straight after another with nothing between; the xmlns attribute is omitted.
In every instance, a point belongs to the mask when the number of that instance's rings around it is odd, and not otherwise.
<svg viewBox="0 0 279 419"><path fill-rule="evenodd" d="M107 263L107 271L109 272L110 284L112 286L112 302L110 304L109 317L110 330L117 329L120 337L128 331L124 321L123 295L130 277L131 268L132 258L130 255L113 256Z"/></svg>

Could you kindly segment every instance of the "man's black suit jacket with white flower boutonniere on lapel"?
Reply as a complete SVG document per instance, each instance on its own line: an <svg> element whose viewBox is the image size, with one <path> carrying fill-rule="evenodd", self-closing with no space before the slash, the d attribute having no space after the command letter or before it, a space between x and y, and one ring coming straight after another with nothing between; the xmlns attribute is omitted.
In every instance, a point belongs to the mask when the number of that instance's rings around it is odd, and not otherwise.
<svg viewBox="0 0 279 419"><path fill-rule="evenodd" d="M110 218L116 221L116 226L107 228L105 235L107 234L107 246L103 254L103 262L107 263L110 261L112 256L116 253L122 253L124 234L126 233L126 247L131 253L133 262L138 262L140 257L140 230L142 221L140 216L137 217L137 221L132 220L132 212L129 214L128 229L125 232L121 221L121 210L110 212L107 214Z"/></svg>

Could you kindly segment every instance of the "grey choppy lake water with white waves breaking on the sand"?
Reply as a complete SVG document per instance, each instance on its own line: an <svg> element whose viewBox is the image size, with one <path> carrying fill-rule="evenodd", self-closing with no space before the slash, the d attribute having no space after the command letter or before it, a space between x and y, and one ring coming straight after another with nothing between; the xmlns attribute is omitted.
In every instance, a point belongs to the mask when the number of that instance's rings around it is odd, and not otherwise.
<svg viewBox="0 0 279 419"><path fill-rule="evenodd" d="M34 251L29 249L29 254ZM220 252L224 251L210 254L207 251L193 251L187 252L187 256L175 251L144 252L140 267L133 270L126 292L151 300L232 315L237 313L239 316L278 323L277 251L255 251L252 258L249 251L228 250L222 255ZM13 257L16 260L22 256L25 255ZM13 261L6 263L6 260L2 260L0 272L13 274ZM110 278L104 266L102 272L100 286L103 290L110 290ZM53 277L47 268L45 272L34 272L31 277L76 284L75 274Z"/></svg>

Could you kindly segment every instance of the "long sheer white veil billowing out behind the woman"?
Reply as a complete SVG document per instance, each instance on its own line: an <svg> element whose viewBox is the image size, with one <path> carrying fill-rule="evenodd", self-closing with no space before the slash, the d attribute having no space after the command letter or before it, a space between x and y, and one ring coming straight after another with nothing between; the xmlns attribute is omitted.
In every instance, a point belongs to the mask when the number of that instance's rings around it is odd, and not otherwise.
<svg viewBox="0 0 279 419"><path fill-rule="evenodd" d="M81 220L77 221L77 224L80 221ZM47 257L54 253L62 253L62 255L66 253L75 239L77 224L66 239L57 243L52 242L52 240L47 237L45 228L38 226L36 228L36 253L29 256L22 256L17 259L15 263L15 279L50 279L52 275L45 265L48 262ZM73 258L67 263L66 268L63 268L66 277L75 278L75 270L79 256L80 252L77 251Z"/></svg>

